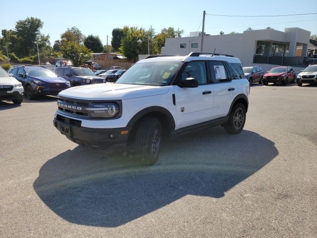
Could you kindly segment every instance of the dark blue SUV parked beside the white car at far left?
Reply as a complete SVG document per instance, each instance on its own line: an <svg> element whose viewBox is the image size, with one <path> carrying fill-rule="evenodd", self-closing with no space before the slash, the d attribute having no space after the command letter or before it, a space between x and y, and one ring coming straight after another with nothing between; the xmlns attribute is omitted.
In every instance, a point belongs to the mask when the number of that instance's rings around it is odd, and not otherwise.
<svg viewBox="0 0 317 238"><path fill-rule="evenodd" d="M60 91L70 87L67 80L43 67L13 66L8 73L22 83L25 96L30 100L35 99L38 95L57 95Z"/></svg>

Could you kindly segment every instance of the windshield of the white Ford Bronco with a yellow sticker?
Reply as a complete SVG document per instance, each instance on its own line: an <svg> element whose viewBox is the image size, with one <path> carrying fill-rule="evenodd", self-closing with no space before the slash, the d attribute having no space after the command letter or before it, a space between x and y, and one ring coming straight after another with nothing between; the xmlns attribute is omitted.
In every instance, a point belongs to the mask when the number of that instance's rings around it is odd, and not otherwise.
<svg viewBox="0 0 317 238"><path fill-rule="evenodd" d="M171 83L181 62L135 63L115 83L165 86Z"/></svg>

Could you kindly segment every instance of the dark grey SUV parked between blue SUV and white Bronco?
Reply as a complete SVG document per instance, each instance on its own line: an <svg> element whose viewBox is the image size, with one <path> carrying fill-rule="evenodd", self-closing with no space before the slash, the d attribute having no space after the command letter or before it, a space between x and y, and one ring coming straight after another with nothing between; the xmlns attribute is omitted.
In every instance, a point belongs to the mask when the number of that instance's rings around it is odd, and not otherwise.
<svg viewBox="0 0 317 238"><path fill-rule="evenodd" d="M96 76L89 68L57 67L54 69L54 73L69 81L71 86L106 83L106 79Z"/></svg>

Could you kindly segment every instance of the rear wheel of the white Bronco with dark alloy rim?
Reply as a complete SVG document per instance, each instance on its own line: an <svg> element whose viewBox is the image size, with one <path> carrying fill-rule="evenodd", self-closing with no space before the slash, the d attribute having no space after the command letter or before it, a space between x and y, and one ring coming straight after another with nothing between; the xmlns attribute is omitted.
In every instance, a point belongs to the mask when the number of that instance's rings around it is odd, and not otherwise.
<svg viewBox="0 0 317 238"><path fill-rule="evenodd" d="M229 114L228 122L223 126L229 134L238 134L246 123L246 109L242 103L235 104Z"/></svg>

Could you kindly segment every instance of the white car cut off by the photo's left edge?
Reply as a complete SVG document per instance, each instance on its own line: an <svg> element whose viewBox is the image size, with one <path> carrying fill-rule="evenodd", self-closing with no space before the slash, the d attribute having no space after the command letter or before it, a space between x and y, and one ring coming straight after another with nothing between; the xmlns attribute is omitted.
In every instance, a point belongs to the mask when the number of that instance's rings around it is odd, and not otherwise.
<svg viewBox="0 0 317 238"><path fill-rule="evenodd" d="M12 101L14 104L21 104L23 96L22 84L0 67L0 101L5 100Z"/></svg>

